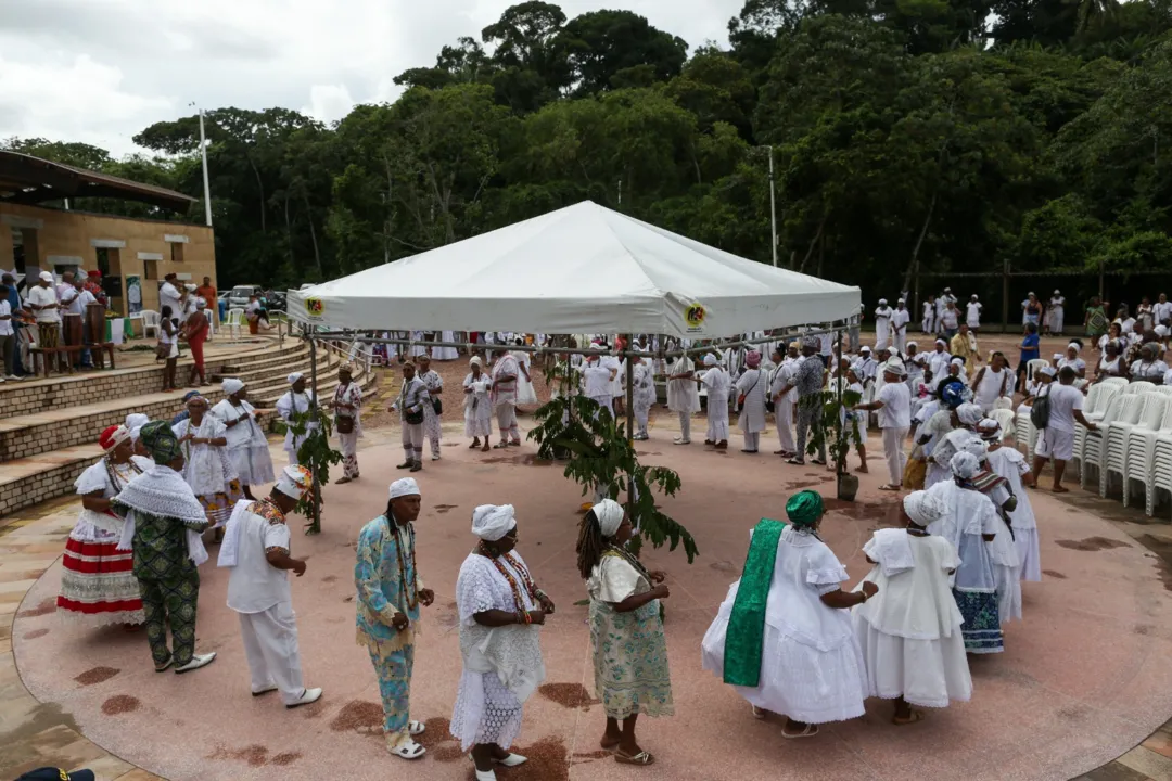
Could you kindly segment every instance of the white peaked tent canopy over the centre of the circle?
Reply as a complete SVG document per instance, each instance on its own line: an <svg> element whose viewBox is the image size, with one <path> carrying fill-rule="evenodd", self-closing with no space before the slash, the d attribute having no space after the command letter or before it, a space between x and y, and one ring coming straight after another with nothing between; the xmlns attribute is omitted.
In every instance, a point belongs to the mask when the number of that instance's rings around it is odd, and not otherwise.
<svg viewBox="0 0 1172 781"><path fill-rule="evenodd" d="M293 320L360 330L715 337L858 311L857 287L590 201L288 295Z"/></svg>

